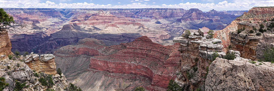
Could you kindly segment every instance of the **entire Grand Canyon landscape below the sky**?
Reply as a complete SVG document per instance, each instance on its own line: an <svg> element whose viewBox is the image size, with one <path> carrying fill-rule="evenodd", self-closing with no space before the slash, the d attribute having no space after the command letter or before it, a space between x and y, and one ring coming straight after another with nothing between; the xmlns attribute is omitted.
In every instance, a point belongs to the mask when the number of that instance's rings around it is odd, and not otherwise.
<svg viewBox="0 0 274 91"><path fill-rule="evenodd" d="M274 7L2 10L0 91L274 90Z"/></svg>

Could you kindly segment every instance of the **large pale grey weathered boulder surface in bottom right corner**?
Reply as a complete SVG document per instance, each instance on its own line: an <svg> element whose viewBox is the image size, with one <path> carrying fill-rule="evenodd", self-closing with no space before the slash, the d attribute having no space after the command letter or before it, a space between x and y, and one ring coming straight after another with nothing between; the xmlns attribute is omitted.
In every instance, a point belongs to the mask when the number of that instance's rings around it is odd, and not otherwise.
<svg viewBox="0 0 274 91"><path fill-rule="evenodd" d="M206 91L274 90L274 66L270 62L258 65L258 61L255 64L249 61L241 57L234 60L216 58L209 66Z"/></svg>

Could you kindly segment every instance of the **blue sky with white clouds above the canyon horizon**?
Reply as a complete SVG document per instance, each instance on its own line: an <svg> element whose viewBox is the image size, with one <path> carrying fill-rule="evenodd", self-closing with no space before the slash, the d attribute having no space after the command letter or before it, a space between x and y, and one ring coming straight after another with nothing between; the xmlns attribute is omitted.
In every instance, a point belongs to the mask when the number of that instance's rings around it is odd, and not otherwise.
<svg viewBox="0 0 274 91"><path fill-rule="evenodd" d="M274 6L274 0L0 0L0 8L198 8L249 10Z"/></svg>

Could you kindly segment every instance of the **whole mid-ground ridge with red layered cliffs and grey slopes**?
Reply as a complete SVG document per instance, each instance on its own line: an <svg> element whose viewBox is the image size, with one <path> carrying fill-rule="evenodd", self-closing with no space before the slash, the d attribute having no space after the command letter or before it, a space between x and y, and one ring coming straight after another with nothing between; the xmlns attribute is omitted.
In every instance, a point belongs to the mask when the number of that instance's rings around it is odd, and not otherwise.
<svg viewBox="0 0 274 91"><path fill-rule="evenodd" d="M65 70L70 82L84 90L132 90L138 86L165 90L169 79L175 78L180 58L178 47L177 43L172 46L153 43L147 36L112 46L105 46L97 39L82 39L77 45L58 49L54 55L56 60L60 59L56 61L57 67Z"/></svg>

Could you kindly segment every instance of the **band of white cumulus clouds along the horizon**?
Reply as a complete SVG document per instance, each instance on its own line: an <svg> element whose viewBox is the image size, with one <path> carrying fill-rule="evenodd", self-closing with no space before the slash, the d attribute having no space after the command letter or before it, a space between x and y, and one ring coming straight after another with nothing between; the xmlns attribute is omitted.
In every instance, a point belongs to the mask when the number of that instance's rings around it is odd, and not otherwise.
<svg viewBox="0 0 274 91"><path fill-rule="evenodd" d="M132 0L139 1L139 0ZM141 0L140 0L141 1ZM142 0L147 1L147 0ZM40 0L0 0L0 8L199 8L202 11L215 10L249 10L252 7L273 6L274 0L233 0L232 2L221 1L218 3L178 3L173 5L147 5L146 3L132 3L128 5L99 5L94 3L55 3Z"/></svg>

